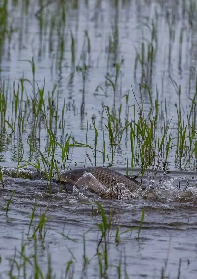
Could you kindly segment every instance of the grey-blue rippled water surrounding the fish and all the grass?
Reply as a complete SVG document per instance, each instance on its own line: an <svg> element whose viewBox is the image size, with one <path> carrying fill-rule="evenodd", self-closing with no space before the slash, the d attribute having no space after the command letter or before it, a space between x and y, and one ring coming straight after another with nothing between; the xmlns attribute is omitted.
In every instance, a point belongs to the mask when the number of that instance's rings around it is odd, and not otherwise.
<svg viewBox="0 0 197 279"><path fill-rule="evenodd" d="M9 84L11 99L14 80L18 81L24 76L33 84L31 64L27 60L31 61L34 57L34 86L37 88L38 84L42 87L45 80L47 100L48 91L52 92L54 84L57 84L60 116L65 98L64 137L72 131L76 141L91 146L94 146L95 140L92 116L106 117L102 103L118 111L121 102L122 123L124 118L128 117L129 121L133 119L132 106L137 104L136 100L139 103L143 100L145 113L150 112L151 98L148 91L142 90L140 93L139 90L139 82L146 83L152 89L153 102L158 98L161 115L166 101L166 119L170 120L173 116L170 128L175 136L177 134L175 102L178 102L179 96L175 90L176 84L173 84L172 80L175 80L178 86L181 85L182 119L186 121L192 104L191 99L196 90L196 17L195 9L193 14L191 13L191 5L193 5L191 3L193 2L122 1L116 7L112 1L67 1L66 25L58 29L64 17L62 3L59 1L47 5L40 15L40 20L35 17L39 9L37 2L30 1L26 15L23 2L9 2L8 29L12 26L14 32L13 34L10 32L12 34L10 42L8 38L5 39L4 53L1 56L2 82L4 80L5 84ZM55 28L51 27L53 24ZM142 53L142 42L151 40L149 29L152 30L153 26L156 26L157 39L153 39L156 52L152 73L150 74L148 67L142 67L138 62L135 78L136 50ZM75 43L74 68L77 69L73 76L71 31ZM88 49L88 38L90 49ZM62 42L64 42L64 51L61 53ZM145 65L149 64L147 45L145 44ZM83 68L84 63L88 66L87 71ZM120 66L120 71L116 94L114 94L113 87L105 76L109 73L108 77L115 83L117 64ZM84 71L85 76L83 76ZM132 94L131 84L136 100ZM32 94L32 85L26 81L24 100ZM125 94L129 94L128 104ZM8 102L8 106L7 117L10 121L12 102ZM130 107L127 116L128 106ZM103 148L103 131L106 132L102 122L106 124L105 119L95 118L99 133L99 150ZM20 148L23 153L21 164L24 164L25 156L27 161L35 162L36 158L39 158L38 150L45 155L48 154L45 127L41 127L40 141L36 146L36 152L32 154L27 141L31 129L31 123L27 120L21 141L22 148ZM158 135L162 134L162 124L161 127L158 125L157 132ZM58 129L56 131L58 140L61 136L62 129ZM125 159L128 157L130 160L131 157L129 137L130 135L125 131L121 146L115 148L113 157L113 166L123 173L125 173ZM17 166L17 139L18 135L14 134L8 143L2 135L1 166L8 168ZM109 142L106 138L106 153L111 160L108 146ZM160 278L161 270L166 263L165 278L196 278L196 172L180 171L185 161L179 162L174 148L174 146L171 148L168 157L168 169L173 171L164 176L165 173L160 170L154 182L156 189L141 191L137 197L129 200L102 200L99 195L87 189L77 189L72 195L67 195L58 192L56 184L52 185L55 189L54 193L49 195L44 193L47 184L45 179L27 180L4 176L5 189L0 188L0 278L11 278L7 273L11 269L9 258L13 257L15 246L19 252L21 251L22 232L24 232L26 255L35 252L34 241L27 240L34 203L37 204L35 211L37 216L40 215L40 210L43 214L47 208L46 216L50 217L44 242L37 240L38 263L42 272L47 273L47 247L49 247L52 256L51 266L56 278L64 278L66 264L70 260L73 261L69 270L71 277L73 270L73 278L99 278L99 260L97 256L93 257L101 237L97 226L101 222L101 216L96 211L98 209L96 201L101 202L107 214L111 210L114 213L113 230L108 243L110 267L107 275L109 278L118 277L117 266L121 255L122 277L125 276L125 268L129 278ZM88 148L69 150L68 162L72 159L71 167L75 164L77 167L84 166L85 151L90 150ZM56 153L59 152L57 148ZM183 155L183 158L186 158L186 155ZM97 164L102 165L102 153L99 152ZM136 161L135 167L135 173L139 175L140 162ZM162 169L162 166L160 165L159 168ZM189 169L192 169L192 165L187 165L187 170ZM152 174L150 170L149 175L144 176L143 180L147 180L144 183L151 182ZM7 202L13 190L15 193L6 217ZM117 244L116 225L120 226L120 232L139 226L142 208L145 209L145 217L139 241L135 239L137 230L133 230L132 233L122 234L121 242ZM36 224L38 221L33 222L34 226ZM89 230L90 228L92 230ZM30 236L32 233L31 227ZM66 239L61 233L66 236L69 233L69 237L76 242ZM83 233L86 233L86 257L91 259L86 268L83 266ZM26 270L28 278L34 269L35 266L28 265ZM16 270L15 274L17 274ZM22 276L22 271L20 275Z"/></svg>

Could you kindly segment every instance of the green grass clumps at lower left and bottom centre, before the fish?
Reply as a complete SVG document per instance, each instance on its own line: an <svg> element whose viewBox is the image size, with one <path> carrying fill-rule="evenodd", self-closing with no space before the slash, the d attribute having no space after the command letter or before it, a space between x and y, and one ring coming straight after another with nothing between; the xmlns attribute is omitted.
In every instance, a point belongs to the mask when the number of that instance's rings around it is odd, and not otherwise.
<svg viewBox="0 0 197 279"><path fill-rule="evenodd" d="M62 233L62 241L67 241L68 245L69 242L82 242L83 247L84 247L84 253L82 256L82 260L84 261L83 264L83 272L86 270L86 273L88 272L88 266L92 263L92 261L95 261L96 259L98 260L98 266L99 266L99 276L100 277L105 277L107 276L109 270L112 269L117 269L119 270L119 278L122 278L122 276L125 275L126 269L122 270L122 253L120 255L119 259L119 264L117 266L114 266L113 264L109 263L109 252L110 252L110 245L112 243L116 243L116 245L119 245L121 243L121 237L123 234L127 234L132 230L138 230L138 235L136 238L136 241L140 241L140 231L142 229L142 223L144 219L144 211L142 211L142 217L141 221L139 222L139 227L132 227L126 231L122 231L120 233L120 227L117 225L117 220L116 217L114 216L113 212L109 213L109 216L105 213L102 205L98 202L96 202L95 206L97 206L97 209L94 209L96 216L100 216L101 222L98 223L97 225L97 230L98 230L98 243L95 246L95 254L92 256L91 259L88 259L88 256L86 255L86 240L85 240L85 235L88 233L84 233L82 236L82 239L78 240L72 240L71 238L67 237ZM28 236L32 227L33 233L31 238L28 238L30 241L26 241L24 239L25 234L22 233L22 243L21 243L21 250L17 250L15 248L14 251L14 256L9 257L6 260L10 262L10 270L6 271L5 274L9 278L28 278L31 274L34 278L55 278L55 274L52 269L52 254L49 252L47 248L47 264L48 268L47 271L43 271L42 266L40 265L39 262L39 255L38 255L38 248L45 247L45 237L47 236L48 229L46 229L46 224L49 220L50 217L46 216L47 209L45 212L42 214L42 216L37 217L36 213L36 205L34 205L33 211L32 211L32 216L30 220L30 225L29 225L29 230L28 230ZM35 219L38 220L38 224L35 226L36 221ZM44 233L42 235L42 230L44 229ZM95 230L94 227L92 227L89 230ZM88 230L88 231L89 231ZM116 232L114 234L114 232ZM65 236L65 237L64 237ZM66 238L66 240L65 240ZM28 249L29 246L32 246L33 252L30 253L29 255L26 254L26 250ZM40 248L39 248L40 249ZM65 263L65 275L62 278L74 278L74 262L75 262L75 255L72 253L70 248L68 248L68 251L71 253L71 260L69 260L67 263ZM1 262L0 262L1 263ZM45 269L46 270L46 269Z"/></svg>

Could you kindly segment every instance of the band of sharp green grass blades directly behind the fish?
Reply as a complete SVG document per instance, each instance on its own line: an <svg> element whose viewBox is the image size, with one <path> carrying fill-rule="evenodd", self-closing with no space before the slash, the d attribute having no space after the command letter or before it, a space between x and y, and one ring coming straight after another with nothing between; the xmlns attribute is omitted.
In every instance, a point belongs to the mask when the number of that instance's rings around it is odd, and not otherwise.
<svg viewBox="0 0 197 279"><path fill-rule="evenodd" d="M143 177L145 170L152 167L157 172L158 168L167 169L168 156L174 151L174 156L178 158L180 168L182 168L182 161L184 157L185 167L187 165L193 165L193 169L196 168L196 133L195 133L195 115L192 116L192 112L187 117L187 121L184 121L182 117L181 101L180 98L176 103L176 114L178 119L178 125L176 129L172 131L171 119L167 119L167 106L165 103L164 111L159 114L158 108L155 106L150 107L149 112L144 111L144 104L142 101L142 87L141 92L141 103L137 100L133 91L133 96L137 103L132 106L132 114L134 115L133 120L129 121L126 119L122 122L122 103L118 108L118 113L115 109L110 111L108 106L104 106L104 113L106 116L102 116L103 121L103 132L98 129L95 120L92 121L94 128L94 146L87 143L77 142L74 138L74 132L71 135L64 135L65 130L65 102L62 108L62 117L58 114L58 93L57 99L55 100L55 87L51 93L48 93L47 100L44 99L44 87L41 89L38 87L37 97L31 97L31 100L23 99L23 81L18 83L17 92L14 91L12 100L12 113L8 111L1 111L1 129L2 133L5 134L6 144L9 145L13 139L19 138L18 141L18 162L17 167L25 165L34 165L35 159L38 163L37 168L42 168L48 172L50 178L52 178L52 172L58 173L59 170L66 168L66 162L69 162L70 148L86 147L92 150L95 165L97 164L97 152L102 154L103 165L105 165L105 158L107 157L109 165L113 165L115 151L117 147L121 147L125 133L130 133L130 150L131 159L128 166L133 168L140 166L142 168L141 177ZM143 89L147 89L143 87ZM33 88L32 88L33 90ZM3 93L7 95L7 92ZM179 86L178 96L181 94L181 87ZM19 97L20 96L20 97ZM152 102L151 102L152 103ZM23 107L25 104L25 107ZM192 99L192 106L195 106L194 100ZM29 112L31 111L31 114ZM4 119L6 115L7 119ZM28 123L27 120L28 119ZM58 122L59 119L59 122ZM61 120L60 120L61 119ZM183 120L182 120L183 119ZM29 127L31 123L31 127ZM160 132L158 132L158 127ZM46 151L44 154L41 153L38 145L40 145L40 136L43 132L46 133ZM57 140L57 131L62 131L61 141ZM26 136L26 144L29 146L29 158L28 153L24 152L24 136ZM87 134L88 137L88 128ZM21 141L23 137L23 141ZM64 138L64 141L62 140ZM103 148L98 149L98 142L103 139ZM87 142L87 141L86 141ZM106 143L110 147L110 153L106 154ZM25 155L25 158L24 158ZM128 157L127 157L128 159ZM22 165L23 164L23 165ZM41 164L41 165L40 165ZM21 166L19 166L21 165Z"/></svg>

